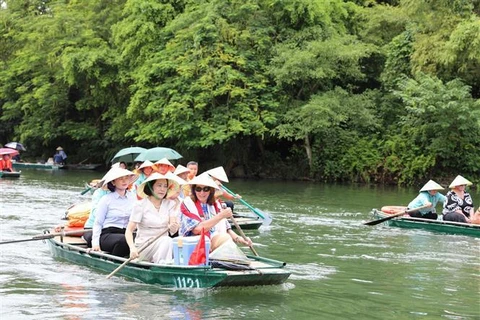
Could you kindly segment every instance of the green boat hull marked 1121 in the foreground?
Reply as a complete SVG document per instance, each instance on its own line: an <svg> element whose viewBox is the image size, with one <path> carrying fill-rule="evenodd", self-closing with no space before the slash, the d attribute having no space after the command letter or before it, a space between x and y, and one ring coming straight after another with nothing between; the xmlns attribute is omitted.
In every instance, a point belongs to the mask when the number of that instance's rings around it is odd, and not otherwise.
<svg viewBox="0 0 480 320"><path fill-rule="evenodd" d="M110 273L125 258L102 252L89 252L80 237L53 237L47 239L52 255L82 266ZM159 265L148 262L130 262L116 273L129 279L148 284L173 288L210 288L222 286L259 286L284 283L290 272L285 263L272 259L247 256L251 270L228 270L226 268L188 265Z"/></svg>

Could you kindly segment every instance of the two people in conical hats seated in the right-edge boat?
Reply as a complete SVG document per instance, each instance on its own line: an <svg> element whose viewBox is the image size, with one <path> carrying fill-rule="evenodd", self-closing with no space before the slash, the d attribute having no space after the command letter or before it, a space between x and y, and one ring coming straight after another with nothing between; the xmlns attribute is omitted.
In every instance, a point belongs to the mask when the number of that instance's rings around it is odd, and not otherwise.
<svg viewBox="0 0 480 320"><path fill-rule="evenodd" d="M428 181L421 189L418 196L408 204L408 214L411 217L438 219L435 207L443 204L443 220L463 223L480 224L480 207L475 212L472 197L466 191L472 182L458 175L448 186L450 191L446 195L439 191L444 188L433 180ZM415 210L419 208L418 210Z"/></svg>

